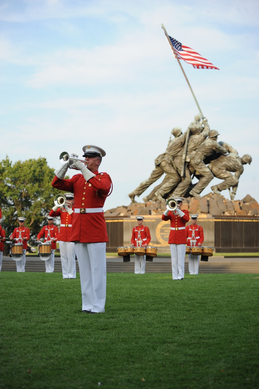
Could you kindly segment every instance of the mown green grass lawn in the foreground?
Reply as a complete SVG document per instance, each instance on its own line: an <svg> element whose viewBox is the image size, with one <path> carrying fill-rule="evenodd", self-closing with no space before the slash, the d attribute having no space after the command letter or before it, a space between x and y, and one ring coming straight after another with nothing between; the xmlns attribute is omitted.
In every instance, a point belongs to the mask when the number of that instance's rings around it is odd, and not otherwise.
<svg viewBox="0 0 259 389"><path fill-rule="evenodd" d="M108 273L89 315L79 275L1 272L0 388L258 388L258 289L254 274Z"/></svg>

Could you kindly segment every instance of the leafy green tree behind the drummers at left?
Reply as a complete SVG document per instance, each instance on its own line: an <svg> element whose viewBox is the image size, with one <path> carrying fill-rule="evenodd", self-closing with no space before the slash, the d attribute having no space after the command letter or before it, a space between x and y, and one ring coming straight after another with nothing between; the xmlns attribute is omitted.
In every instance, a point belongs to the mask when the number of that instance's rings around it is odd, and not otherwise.
<svg viewBox="0 0 259 389"><path fill-rule="evenodd" d="M54 197L60 193L51 186L54 175L55 170L48 166L46 158L12 164L6 156L0 161L0 207L7 237L18 227L17 218L24 216L27 219L25 225L30 228L31 241L35 240L46 224Z"/></svg>

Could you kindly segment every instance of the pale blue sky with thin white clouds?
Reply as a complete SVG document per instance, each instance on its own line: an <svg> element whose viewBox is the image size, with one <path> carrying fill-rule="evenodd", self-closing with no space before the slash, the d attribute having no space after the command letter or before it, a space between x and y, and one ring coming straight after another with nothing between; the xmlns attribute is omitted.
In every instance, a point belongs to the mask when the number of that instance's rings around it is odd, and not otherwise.
<svg viewBox="0 0 259 389"><path fill-rule="evenodd" d="M198 113L163 23L220 68L182 61L218 140L253 158L236 198L259 200L258 11L254 0L0 0L0 158L42 156L58 169L62 151L99 145L114 184L104 209L128 205L171 129Z"/></svg>

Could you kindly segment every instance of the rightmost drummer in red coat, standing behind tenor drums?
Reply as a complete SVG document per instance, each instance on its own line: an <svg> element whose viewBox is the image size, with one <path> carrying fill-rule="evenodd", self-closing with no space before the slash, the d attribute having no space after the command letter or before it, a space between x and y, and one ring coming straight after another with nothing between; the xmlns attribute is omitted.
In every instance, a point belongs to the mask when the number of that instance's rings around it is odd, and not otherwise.
<svg viewBox="0 0 259 389"><path fill-rule="evenodd" d="M192 224L185 227L186 237L187 237L187 246L197 247L201 246L204 241L204 234L202 226L198 226L197 217L198 215L190 215ZM199 272L199 261L200 255L193 255L192 253L188 254L189 259L189 273L191 275L196 275Z"/></svg>

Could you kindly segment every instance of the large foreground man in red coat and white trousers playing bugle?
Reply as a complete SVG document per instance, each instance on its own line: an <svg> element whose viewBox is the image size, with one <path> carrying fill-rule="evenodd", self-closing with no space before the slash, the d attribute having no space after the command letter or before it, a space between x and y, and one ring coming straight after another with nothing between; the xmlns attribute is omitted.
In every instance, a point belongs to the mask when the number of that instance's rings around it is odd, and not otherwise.
<svg viewBox="0 0 259 389"><path fill-rule="evenodd" d="M75 242L78 259L82 311L97 313L104 312L106 300L108 235L102 208L112 182L109 174L98 171L106 152L95 145L84 146L83 152L85 163L75 160L72 164L72 167L81 170L82 174L65 180L69 168L69 163L66 163L56 172L52 186L74 193L75 208L70 241Z"/></svg>

